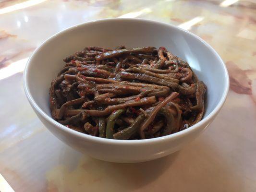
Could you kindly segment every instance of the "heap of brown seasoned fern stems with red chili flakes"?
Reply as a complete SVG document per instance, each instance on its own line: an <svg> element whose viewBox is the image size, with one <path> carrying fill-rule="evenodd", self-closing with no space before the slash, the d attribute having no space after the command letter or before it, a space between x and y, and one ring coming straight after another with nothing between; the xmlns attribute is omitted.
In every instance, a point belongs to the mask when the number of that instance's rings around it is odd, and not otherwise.
<svg viewBox="0 0 256 192"><path fill-rule="evenodd" d="M206 85L166 48L86 47L51 82L54 120L109 139L182 131L204 114Z"/></svg>

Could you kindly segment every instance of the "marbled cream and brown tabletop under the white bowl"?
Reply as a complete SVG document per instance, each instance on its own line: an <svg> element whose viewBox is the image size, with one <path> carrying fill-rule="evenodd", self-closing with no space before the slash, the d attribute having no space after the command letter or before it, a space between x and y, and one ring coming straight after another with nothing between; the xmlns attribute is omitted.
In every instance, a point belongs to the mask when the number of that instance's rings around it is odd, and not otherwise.
<svg viewBox="0 0 256 192"><path fill-rule="evenodd" d="M33 50L69 26L112 17L178 25L228 67L218 117L175 154L138 164L90 158L55 138L28 104L22 75ZM1 0L0 87L0 174L15 192L256 191L255 0Z"/></svg>

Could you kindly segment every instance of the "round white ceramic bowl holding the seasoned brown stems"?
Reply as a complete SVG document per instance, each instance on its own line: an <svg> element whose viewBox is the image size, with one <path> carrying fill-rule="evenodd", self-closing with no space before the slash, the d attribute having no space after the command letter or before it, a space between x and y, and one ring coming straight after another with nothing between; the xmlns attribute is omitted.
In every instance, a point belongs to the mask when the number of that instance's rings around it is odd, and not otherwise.
<svg viewBox="0 0 256 192"><path fill-rule="evenodd" d="M73 131L53 120L50 82L64 66L63 58L87 46L114 48L166 47L186 60L207 85L203 120L171 135L146 140L111 140ZM142 162L167 156L195 139L214 120L226 99L229 77L217 52L198 36L171 24L143 19L104 19L70 27L47 39L27 62L26 96L38 118L57 138L89 156L112 162Z"/></svg>

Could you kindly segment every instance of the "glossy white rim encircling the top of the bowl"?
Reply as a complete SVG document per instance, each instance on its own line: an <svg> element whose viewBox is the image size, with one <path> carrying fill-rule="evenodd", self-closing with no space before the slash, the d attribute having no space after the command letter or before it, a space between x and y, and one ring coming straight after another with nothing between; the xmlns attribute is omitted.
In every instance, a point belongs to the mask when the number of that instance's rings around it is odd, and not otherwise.
<svg viewBox="0 0 256 192"><path fill-rule="evenodd" d="M48 43L49 41L54 39L56 36L59 36L59 35L64 34L66 32L72 31L72 30L74 30L76 28L83 27L85 25L95 24L95 23L99 23L100 24L100 23L115 22L115 21L130 21L130 22L143 22L143 23L151 23L151 24L160 24L160 25L164 25L166 27L178 29L178 30L182 31L183 33L186 33L189 36L192 36L193 38L196 38L197 40L201 41L201 43L203 43L215 55L215 57L219 60L220 64L222 65L222 68L224 70L224 73L225 73L225 77L224 77L225 78L224 92L222 93L222 96L221 96L221 98L219 100L219 103L216 105L216 107L206 117L204 117L204 119L200 120L195 125L187 128L187 129L185 129L183 131L172 133L172 134L166 135L166 136L157 137L157 138L142 139L142 140L115 140L115 139L107 139L107 138L91 136L91 135L88 135L88 134L85 134L85 133L74 131L74 130L72 130L72 129L62 125L58 121L53 120L52 117L47 115L41 108L39 108L39 106L37 105L37 103L33 99L33 96L30 93L30 89L29 89L29 85L28 85L28 72L29 72L29 69L30 69L30 66L31 66L31 60L37 54L37 51L39 51L46 43ZM184 30L184 29L182 29L182 28L180 28L178 26L175 26L173 24L167 24L167 23L153 21L153 20L148 20L148 19L140 19L140 18L108 18L108 19L92 20L92 21L88 21L88 22L85 22L85 23L81 23L81 24L75 24L75 25L73 25L71 27L68 27L66 29L61 30L60 32L58 32L58 33L54 34L53 36L50 36L48 39L46 39L38 48L36 48L34 50L32 55L30 56L29 60L27 61L25 69L24 69L23 85L24 85L25 95L26 95L30 105L34 108L34 110L36 110L41 115L41 117L43 117L45 120L49 121L55 127L56 126L59 127L62 131L67 132L69 134L73 134L74 136L80 137L82 139L90 140L92 142L98 142L98 143L104 143L104 144L136 145L136 144L151 144L151 143L164 142L164 141L169 140L169 139L183 137L183 136L185 136L187 134L190 134L194 130L199 129L199 127L201 127L203 124L208 123L212 118L214 118L218 114L219 110L222 108L222 106L223 106L223 104L224 104L224 102L225 102L225 100L227 98L228 91L229 91L229 74L228 74L228 70L227 70L223 60L220 58L219 54L215 51L215 49L212 48L202 38L200 38L199 36L196 36L192 32Z"/></svg>

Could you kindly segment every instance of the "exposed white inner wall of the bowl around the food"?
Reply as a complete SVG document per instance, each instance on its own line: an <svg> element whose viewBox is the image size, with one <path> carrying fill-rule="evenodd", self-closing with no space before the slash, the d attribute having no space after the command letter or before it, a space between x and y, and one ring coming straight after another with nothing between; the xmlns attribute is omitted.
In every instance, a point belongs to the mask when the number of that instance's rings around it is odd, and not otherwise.
<svg viewBox="0 0 256 192"><path fill-rule="evenodd" d="M199 80L207 85L206 117L223 99L228 80L216 52L201 39L168 24L145 20L115 19L90 22L69 28L40 46L26 68L28 92L39 108L50 116L50 82L64 66L62 59L88 46L114 48L166 47L186 60Z"/></svg>

